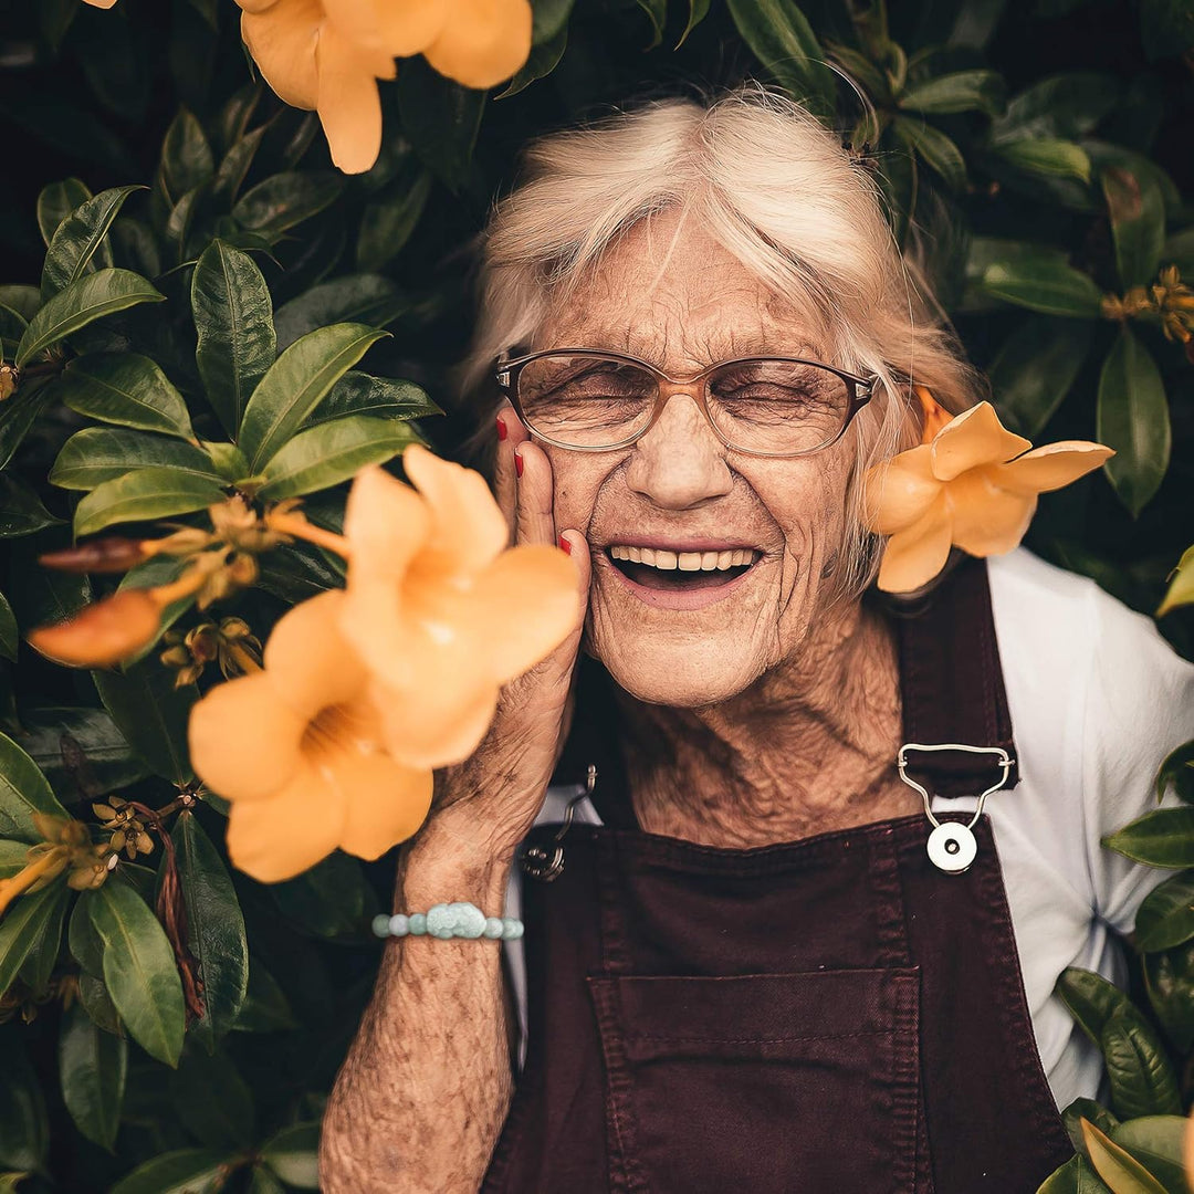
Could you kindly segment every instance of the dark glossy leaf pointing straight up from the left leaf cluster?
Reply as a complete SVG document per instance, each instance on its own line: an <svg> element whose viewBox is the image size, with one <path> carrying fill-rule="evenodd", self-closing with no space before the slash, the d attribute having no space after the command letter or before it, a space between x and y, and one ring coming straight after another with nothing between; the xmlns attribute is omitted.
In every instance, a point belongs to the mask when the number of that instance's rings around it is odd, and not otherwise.
<svg viewBox="0 0 1194 1194"><path fill-rule="evenodd" d="M198 343L195 363L228 435L236 433L253 388L277 355L273 301L246 253L215 240L191 278Z"/></svg>

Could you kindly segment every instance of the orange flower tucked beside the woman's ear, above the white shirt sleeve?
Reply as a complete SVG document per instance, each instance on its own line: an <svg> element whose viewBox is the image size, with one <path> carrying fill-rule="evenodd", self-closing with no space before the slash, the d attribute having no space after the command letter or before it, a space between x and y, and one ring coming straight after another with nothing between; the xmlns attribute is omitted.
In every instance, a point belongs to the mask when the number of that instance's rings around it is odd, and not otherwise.
<svg viewBox="0 0 1194 1194"><path fill-rule="evenodd" d="M1028 529L1038 494L1114 455L1084 439L1029 451L1032 444L1008 431L990 402L941 426L930 418L927 426L930 442L876 464L866 478L867 525L891 536L879 571L887 592L928 584L954 546L978 556L1010 552Z"/></svg>

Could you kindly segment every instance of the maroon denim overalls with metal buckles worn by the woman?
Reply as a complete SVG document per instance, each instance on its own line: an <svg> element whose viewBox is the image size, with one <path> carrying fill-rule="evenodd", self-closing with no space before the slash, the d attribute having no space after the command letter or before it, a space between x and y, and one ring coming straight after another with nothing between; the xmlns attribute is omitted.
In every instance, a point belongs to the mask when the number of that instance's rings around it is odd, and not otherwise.
<svg viewBox="0 0 1194 1194"><path fill-rule="evenodd" d="M907 740L1010 750L985 565L898 629ZM596 762L604 825L523 880L527 1063L482 1190L1033 1194L1072 1149L987 816L953 875L923 813L757 849L645 833L609 677L584 675L556 774ZM959 752L917 773L942 795L998 774Z"/></svg>

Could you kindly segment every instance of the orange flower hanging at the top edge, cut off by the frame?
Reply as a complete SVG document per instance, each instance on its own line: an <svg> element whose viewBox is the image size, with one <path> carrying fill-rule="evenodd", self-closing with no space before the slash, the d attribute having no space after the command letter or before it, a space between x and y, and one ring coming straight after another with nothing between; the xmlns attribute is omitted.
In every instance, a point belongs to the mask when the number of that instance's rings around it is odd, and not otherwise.
<svg viewBox="0 0 1194 1194"><path fill-rule="evenodd" d="M509 79L530 54L529 0L236 0L240 32L266 82L314 109L332 161L369 170L381 149L378 79L423 53L469 87Z"/></svg>

